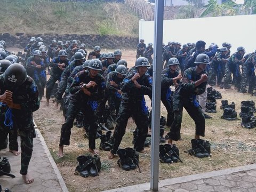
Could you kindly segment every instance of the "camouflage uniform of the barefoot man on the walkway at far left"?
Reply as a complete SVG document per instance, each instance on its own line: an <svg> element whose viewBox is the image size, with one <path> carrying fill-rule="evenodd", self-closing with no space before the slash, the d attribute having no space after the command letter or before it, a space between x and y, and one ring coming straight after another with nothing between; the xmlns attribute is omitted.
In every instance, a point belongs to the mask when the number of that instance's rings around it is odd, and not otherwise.
<svg viewBox="0 0 256 192"><path fill-rule="evenodd" d="M7 134L11 131L14 137L10 140L10 150L18 151L17 131L19 130L21 142L21 170L20 174L26 175L28 165L33 151L33 138L36 137L33 124L33 111L39 108L39 92L36 84L31 77L27 77L26 81L18 87L6 87L4 76L0 75L0 94L6 90L12 91L13 103L20 104L21 109L12 109L13 127L8 127L4 124L5 113L7 107L0 105L0 142L5 141Z"/></svg>

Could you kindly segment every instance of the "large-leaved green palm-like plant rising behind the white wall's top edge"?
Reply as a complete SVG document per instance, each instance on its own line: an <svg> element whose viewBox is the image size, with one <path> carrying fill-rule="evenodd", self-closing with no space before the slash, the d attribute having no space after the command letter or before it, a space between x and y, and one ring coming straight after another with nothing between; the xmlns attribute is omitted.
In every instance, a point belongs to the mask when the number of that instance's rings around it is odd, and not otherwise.
<svg viewBox="0 0 256 192"><path fill-rule="evenodd" d="M222 4L218 4L217 0L209 0L208 4L205 5L206 10L201 14L200 17L205 17L205 15L211 15L212 17L234 15L236 12L234 7L236 5L237 4L235 2L230 0Z"/></svg>

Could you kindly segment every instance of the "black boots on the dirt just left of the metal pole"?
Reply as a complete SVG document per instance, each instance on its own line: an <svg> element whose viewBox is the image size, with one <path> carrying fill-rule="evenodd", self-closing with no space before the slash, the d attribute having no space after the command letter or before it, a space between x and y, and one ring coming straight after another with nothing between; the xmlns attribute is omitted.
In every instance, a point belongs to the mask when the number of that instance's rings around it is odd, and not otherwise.
<svg viewBox="0 0 256 192"><path fill-rule="evenodd" d="M125 171L134 170L139 167L139 153L131 147L125 149L118 149L117 155L119 159L117 164Z"/></svg>

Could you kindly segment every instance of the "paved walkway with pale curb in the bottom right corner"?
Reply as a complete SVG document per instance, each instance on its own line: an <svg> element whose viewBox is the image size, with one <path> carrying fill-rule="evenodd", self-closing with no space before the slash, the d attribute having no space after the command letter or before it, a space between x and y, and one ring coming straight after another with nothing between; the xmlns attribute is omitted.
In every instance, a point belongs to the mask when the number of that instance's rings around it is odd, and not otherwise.
<svg viewBox="0 0 256 192"><path fill-rule="evenodd" d="M256 192L256 164L159 181L159 192ZM149 192L150 183L105 192Z"/></svg>

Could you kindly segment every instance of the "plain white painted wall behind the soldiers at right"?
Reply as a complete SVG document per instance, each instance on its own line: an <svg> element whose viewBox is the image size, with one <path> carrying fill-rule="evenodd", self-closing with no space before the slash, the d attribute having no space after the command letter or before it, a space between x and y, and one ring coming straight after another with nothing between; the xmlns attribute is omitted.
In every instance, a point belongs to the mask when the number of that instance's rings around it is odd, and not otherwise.
<svg viewBox="0 0 256 192"><path fill-rule="evenodd" d="M145 39L146 45L154 43L154 21L140 21L139 30L139 39ZM256 15L164 20L165 44L169 41L196 43L198 40L205 41L206 47L211 43L216 43L219 47L223 42L231 43L231 53L236 52L238 46L245 47L246 53L254 52Z"/></svg>

